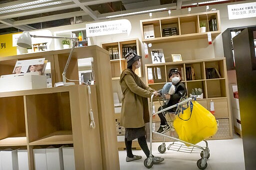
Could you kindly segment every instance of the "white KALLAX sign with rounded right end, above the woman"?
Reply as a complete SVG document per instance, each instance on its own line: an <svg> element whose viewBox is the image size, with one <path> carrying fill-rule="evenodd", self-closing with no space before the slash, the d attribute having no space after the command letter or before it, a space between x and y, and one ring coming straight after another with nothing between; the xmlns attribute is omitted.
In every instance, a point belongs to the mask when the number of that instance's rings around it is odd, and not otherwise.
<svg viewBox="0 0 256 170"><path fill-rule="evenodd" d="M127 33L129 35L131 24L128 19L111 20L86 24L86 37Z"/></svg>

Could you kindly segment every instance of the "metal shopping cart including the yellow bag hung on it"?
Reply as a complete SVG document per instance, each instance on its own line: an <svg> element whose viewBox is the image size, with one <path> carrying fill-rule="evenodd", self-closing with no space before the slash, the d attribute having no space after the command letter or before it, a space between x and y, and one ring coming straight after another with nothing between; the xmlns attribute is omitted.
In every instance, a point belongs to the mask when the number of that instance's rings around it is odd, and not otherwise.
<svg viewBox="0 0 256 170"><path fill-rule="evenodd" d="M197 167L200 170L204 170L207 167L207 159L209 158L209 148L208 143L204 139L212 136L216 133L217 126L216 121L213 115L210 114L206 109L204 109L201 105L199 105L195 100L196 97L189 97L187 99L184 99L180 101L179 103L172 105L170 107L164 108L162 110L159 110L155 113L152 113L152 103L153 103L153 96L151 95L150 98L150 110L149 110L149 130L150 130L150 146L149 146L149 157L144 160L144 166L146 168L151 168L153 166L152 162L152 133L160 135L163 137L162 144L158 147L158 151L162 154L166 151L164 138L172 139L174 142L172 142L168 147L167 150L174 150L178 152L185 152L185 153L200 153L201 159L199 159L196 163ZM183 106L186 106L187 108L184 108ZM167 136L161 133L157 133L155 131L152 131L152 116L157 115L162 112L166 112L172 108L177 107L177 115L176 119L174 121L174 127L172 127L172 123L169 123L170 121L167 121L171 126L171 128L176 128L175 131L179 135L179 138L174 138L171 136ZM173 113L167 113L164 114L165 117L168 114ZM204 120L204 122L201 122L201 118ZM199 120L196 120L199 119ZM171 120L172 122L173 120ZM198 123L200 121L200 123ZM181 123L180 123L181 122ZM182 125L183 123L183 125ZM201 125L198 125L201 124ZM186 128L187 126L191 130L191 134L185 134L182 129ZM204 127L198 127L198 126L204 126ZM187 128L188 129L188 128ZM186 130L187 130L186 129ZM203 129L203 130L201 130ZM200 130L201 132L196 132L196 130ZM184 140L181 140L180 137ZM205 147L201 147L198 145L195 145L196 143L204 141ZM190 143L189 143L190 142ZM185 145L182 145L182 144Z"/></svg>

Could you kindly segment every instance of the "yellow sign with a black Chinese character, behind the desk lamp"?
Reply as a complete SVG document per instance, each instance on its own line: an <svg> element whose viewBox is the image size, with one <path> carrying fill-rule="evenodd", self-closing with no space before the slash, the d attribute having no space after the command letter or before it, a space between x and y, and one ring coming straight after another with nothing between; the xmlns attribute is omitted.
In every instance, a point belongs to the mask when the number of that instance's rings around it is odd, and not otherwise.
<svg viewBox="0 0 256 170"><path fill-rule="evenodd" d="M0 57L17 55L16 47L12 46L12 34L13 33L0 35Z"/></svg>

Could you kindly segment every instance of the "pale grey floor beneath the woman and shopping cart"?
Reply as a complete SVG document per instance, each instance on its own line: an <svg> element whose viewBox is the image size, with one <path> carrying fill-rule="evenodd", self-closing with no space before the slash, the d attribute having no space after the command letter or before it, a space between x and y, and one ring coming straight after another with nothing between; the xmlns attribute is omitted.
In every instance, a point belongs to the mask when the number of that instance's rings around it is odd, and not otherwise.
<svg viewBox="0 0 256 170"><path fill-rule="evenodd" d="M210 158L207 161L205 170L245 170L242 139L233 135L231 140L209 140L208 147ZM159 165L153 165L150 170L199 170L196 162L200 159L200 154L181 153L166 150L160 154L157 150L161 143L152 143L152 154L164 158ZM166 143L166 146L170 144ZM204 143L197 144L204 146ZM148 143L149 146L149 143ZM144 167L143 161L146 158L142 150L132 150L134 155L141 155L142 159L125 162L126 151L119 151L120 170L148 170Z"/></svg>

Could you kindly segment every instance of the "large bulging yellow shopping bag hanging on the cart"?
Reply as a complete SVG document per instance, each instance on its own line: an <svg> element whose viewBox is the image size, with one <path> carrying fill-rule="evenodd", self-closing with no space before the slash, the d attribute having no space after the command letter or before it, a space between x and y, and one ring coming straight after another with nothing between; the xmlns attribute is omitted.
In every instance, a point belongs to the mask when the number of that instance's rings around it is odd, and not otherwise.
<svg viewBox="0 0 256 170"><path fill-rule="evenodd" d="M182 112L176 115L173 122L180 140L197 144L217 132L215 117L196 101L190 102Z"/></svg>

